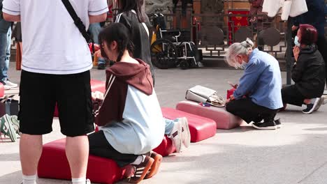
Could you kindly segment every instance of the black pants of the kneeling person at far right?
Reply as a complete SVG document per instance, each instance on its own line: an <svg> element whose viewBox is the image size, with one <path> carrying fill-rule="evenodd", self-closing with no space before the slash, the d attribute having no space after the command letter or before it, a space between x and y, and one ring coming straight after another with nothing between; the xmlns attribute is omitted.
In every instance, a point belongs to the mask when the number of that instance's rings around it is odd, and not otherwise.
<svg viewBox="0 0 327 184"><path fill-rule="evenodd" d="M282 88L282 100L283 104L291 104L296 106L302 106L305 96L298 91L295 85L290 85Z"/></svg>

